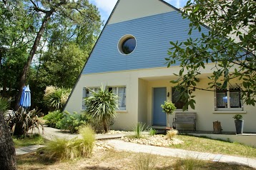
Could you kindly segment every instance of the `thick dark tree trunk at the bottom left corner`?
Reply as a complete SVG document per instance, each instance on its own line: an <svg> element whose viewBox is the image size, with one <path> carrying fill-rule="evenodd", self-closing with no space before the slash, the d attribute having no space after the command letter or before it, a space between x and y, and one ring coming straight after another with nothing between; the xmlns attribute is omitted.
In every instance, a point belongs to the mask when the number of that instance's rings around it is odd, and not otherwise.
<svg viewBox="0 0 256 170"><path fill-rule="evenodd" d="M0 113L0 169L16 169L14 141L2 113Z"/></svg>

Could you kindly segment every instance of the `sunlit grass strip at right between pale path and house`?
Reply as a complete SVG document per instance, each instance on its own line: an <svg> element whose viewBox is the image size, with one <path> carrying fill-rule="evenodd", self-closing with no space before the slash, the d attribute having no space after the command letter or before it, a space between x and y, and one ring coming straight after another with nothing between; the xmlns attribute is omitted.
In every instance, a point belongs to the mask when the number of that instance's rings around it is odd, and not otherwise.
<svg viewBox="0 0 256 170"><path fill-rule="evenodd" d="M173 145L171 148L256 158L256 148L244 144L187 135L177 135L176 138L184 141L184 144Z"/></svg>

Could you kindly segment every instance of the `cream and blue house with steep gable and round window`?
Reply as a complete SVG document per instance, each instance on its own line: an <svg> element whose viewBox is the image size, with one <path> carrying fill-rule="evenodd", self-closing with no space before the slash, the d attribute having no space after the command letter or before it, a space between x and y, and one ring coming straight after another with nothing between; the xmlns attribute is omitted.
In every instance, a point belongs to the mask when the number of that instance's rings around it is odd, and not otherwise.
<svg viewBox="0 0 256 170"><path fill-rule="evenodd" d="M169 81L176 79L179 63L167 68L164 64L169 41L184 41L189 36L189 20L182 19L179 10L162 0L119 0L104 26L87 63L74 86L65 110L83 111L83 99L90 96L85 88L97 90L103 84L119 96L119 110L112 129L130 130L137 122L152 128L164 129L172 124L174 115L162 112L161 104L172 101L176 112L182 112L183 103L177 99L179 91ZM207 34L193 31L192 37ZM200 88L206 88L212 65L207 64L200 75ZM232 84L240 84L232 81ZM223 131L235 131L235 114L242 114L244 131L256 131L255 106L242 104L239 86L230 91L195 91L197 130L212 131L212 122L220 121ZM224 97L225 100L224 100ZM178 125L177 129L192 129Z"/></svg>

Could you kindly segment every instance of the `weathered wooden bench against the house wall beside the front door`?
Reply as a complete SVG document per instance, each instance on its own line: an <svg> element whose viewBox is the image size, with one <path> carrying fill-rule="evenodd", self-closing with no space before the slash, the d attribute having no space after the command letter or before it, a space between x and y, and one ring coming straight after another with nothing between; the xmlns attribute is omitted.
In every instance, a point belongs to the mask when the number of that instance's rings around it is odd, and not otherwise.
<svg viewBox="0 0 256 170"><path fill-rule="evenodd" d="M176 113L172 121L172 126L176 129L176 124L193 124L194 131L197 130L197 113Z"/></svg>

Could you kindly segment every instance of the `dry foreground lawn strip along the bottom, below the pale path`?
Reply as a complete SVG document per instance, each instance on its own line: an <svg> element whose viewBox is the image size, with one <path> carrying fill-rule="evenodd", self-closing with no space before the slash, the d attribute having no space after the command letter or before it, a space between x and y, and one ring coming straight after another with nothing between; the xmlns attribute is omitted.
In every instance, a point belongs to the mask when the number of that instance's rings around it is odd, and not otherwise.
<svg viewBox="0 0 256 170"><path fill-rule="evenodd" d="M170 156L156 156L127 151L97 150L89 159L76 161L49 161L40 155L26 154L17 156L18 169L72 169L72 170L132 170L132 169L253 169L248 166L225 164L222 162L179 159Z"/></svg>

